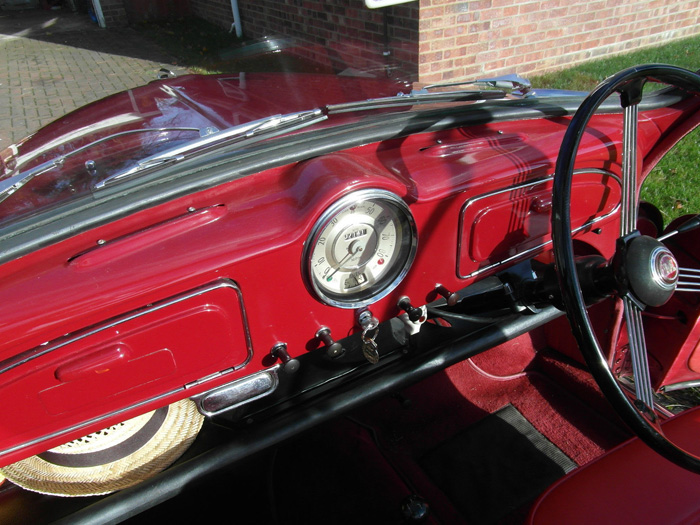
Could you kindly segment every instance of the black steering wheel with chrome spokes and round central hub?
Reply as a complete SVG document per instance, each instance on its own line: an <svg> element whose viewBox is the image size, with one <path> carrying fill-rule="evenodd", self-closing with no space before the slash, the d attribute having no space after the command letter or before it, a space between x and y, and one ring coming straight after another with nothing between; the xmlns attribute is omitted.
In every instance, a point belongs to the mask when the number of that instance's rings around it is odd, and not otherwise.
<svg viewBox="0 0 700 525"><path fill-rule="evenodd" d="M581 353L603 394L642 441L677 465L700 473L700 457L671 443L659 425L642 326L642 310L668 301L675 291L679 273L671 252L657 239L637 231L638 108L647 81L700 93L699 75L678 67L652 64L621 71L588 95L569 124L557 158L552 198L553 248L564 308ZM576 273L569 214L572 175L581 138L596 110L614 94L619 94L623 110L622 202L615 263L608 270L614 272L614 294L623 304L634 396L626 394L615 379L593 331Z"/></svg>

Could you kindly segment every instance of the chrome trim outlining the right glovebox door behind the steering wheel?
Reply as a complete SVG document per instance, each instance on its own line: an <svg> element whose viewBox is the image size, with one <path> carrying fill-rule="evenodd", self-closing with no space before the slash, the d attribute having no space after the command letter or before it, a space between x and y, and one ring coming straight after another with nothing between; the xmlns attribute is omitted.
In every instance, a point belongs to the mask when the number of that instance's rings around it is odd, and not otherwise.
<svg viewBox="0 0 700 525"><path fill-rule="evenodd" d="M620 188L622 188L622 180L620 179L620 177L618 177L614 173L611 173L607 170L580 169L580 170L574 171L574 175L579 175L579 174L583 174L583 173L596 173L596 174L600 174L600 175L607 175L608 177L611 177L613 180L616 180L617 183L620 185ZM460 254L462 253L462 232L463 232L463 228L464 228L464 216L465 216L465 214L467 212L467 208L469 206L471 206L475 202L480 201L482 199L485 199L487 197L492 197L493 195L499 195L501 193L508 193L511 191L517 191L517 190L521 190L524 188L529 188L531 186L536 186L537 184L542 184L543 182L547 182L549 180L554 180L554 174L548 175L546 177L543 177L541 179L537 179L534 181L525 182L522 184L516 184L515 186L509 186L509 187L504 188L502 190L493 191L491 193L485 193L483 195L473 197L464 203L464 205L462 206L462 209L460 211L459 228L458 228L458 232L457 232L457 277L459 277L460 279L471 279L472 277L476 277L477 275L479 275L481 273L487 272L489 270L493 270L494 268L497 268L499 266L503 266L504 264L508 264L508 263L513 262L513 261L524 259L524 258L532 255L533 253L536 253L536 252L542 250L543 248L552 244L552 241L550 239L549 241L545 241L542 244L538 244L537 246L533 246L532 248L529 248L523 252L516 253L515 255L512 255L506 259L489 264L488 266L483 266L482 268L479 268L478 270L474 270L472 273L469 273L467 275L462 274L462 271L460 268L459 261L460 261ZM607 219L608 217L615 215L619 209L620 209L620 204L618 203L617 206L615 206L610 211L610 213L606 213L605 215L601 215L600 217L596 217L595 219L586 222L585 224L579 226L578 228L571 230L571 234L575 235L576 233L583 231L586 228L590 228L594 224L596 224L600 221L603 221L603 220Z"/></svg>

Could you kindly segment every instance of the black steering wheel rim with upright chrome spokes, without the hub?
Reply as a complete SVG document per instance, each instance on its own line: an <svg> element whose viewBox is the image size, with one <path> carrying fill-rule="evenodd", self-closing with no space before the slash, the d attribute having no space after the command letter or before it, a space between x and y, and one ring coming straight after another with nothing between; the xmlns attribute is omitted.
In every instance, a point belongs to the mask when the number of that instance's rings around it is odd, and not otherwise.
<svg viewBox="0 0 700 525"><path fill-rule="evenodd" d="M644 334L641 331L641 309L639 301L627 291L619 294L625 308L625 326L630 334L630 351L633 355L633 368L637 396L634 402L622 390L608 366L605 353L593 331L576 273L573 240L571 235L571 187L574 163L578 148L590 119L598 107L611 95L619 93L624 112L623 130L623 190L621 204L620 237L634 235L637 218L637 111L642 97L642 89L648 80L663 82L683 89L700 92L700 76L675 66L651 64L626 69L604 80L583 101L572 118L565 133L557 158L552 196L552 241L557 276L573 334L603 394L613 405L620 417L634 433L656 452L673 463L690 471L700 473L700 457L689 453L670 442L663 434L658 418L648 400L651 396L651 381L646 361ZM620 244L620 241L618 241ZM641 308L640 308L641 306ZM641 348L638 341L641 332ZM632 340L634 339L634 344ZM640 357L643 362L636 363ZM637 377L639 374L640 377ZM646 374L646 377L644 377ZM644 383L644 384L642 384ZM639 385L639 386L638 386ZM641 388L641 394L640 394ZM648 389L648 392L647 392ZM639 397L647 399L640 403ZM635 404L637 406L635 406Z"/></svg>

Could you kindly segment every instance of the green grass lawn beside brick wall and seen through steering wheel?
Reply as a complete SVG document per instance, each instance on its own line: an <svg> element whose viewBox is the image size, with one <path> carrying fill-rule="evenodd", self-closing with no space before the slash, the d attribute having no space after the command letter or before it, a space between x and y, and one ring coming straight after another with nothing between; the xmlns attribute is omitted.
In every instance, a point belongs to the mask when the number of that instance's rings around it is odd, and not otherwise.
<svg viewBox="0 0 700 525"><path fill-rule="evenodd" d="M672 64L693 71L700 68L700 37L687 38L620 55L594 60L558 73L531 78L533 86L590 91L608 76L638 64ZM649 175L641 198L655 204L668 224L689 213L700 213L700 129L685 137Z"/></svg>

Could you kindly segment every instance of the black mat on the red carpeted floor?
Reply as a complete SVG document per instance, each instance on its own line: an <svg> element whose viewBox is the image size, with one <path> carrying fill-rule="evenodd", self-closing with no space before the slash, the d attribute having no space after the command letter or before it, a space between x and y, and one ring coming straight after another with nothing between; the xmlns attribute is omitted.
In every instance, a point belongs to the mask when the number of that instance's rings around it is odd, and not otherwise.
<svg viewBox="0 0 700 525"><path fill-rule="evenodd" d="M421 466L468 522L496 523L576 464L506 405L427 453Z"/></svg>

